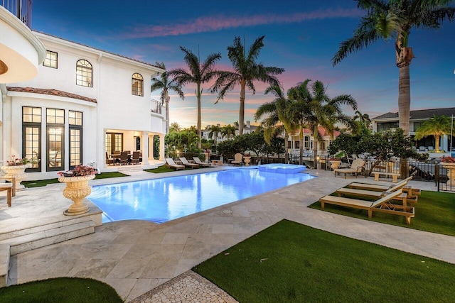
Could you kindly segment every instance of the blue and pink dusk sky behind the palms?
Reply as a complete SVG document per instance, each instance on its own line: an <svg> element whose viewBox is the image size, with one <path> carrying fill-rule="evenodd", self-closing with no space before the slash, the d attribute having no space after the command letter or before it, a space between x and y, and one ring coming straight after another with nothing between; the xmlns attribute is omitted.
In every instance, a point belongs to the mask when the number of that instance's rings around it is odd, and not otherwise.
<svg viewBox="0 0 455 303"><path fill-rule="evenodd" d="M343 40L352 36L364 15L355 1L33 1L32 28L144 62L164 62L168 69L185 67L184 46L203 60L211 53L223 56L218 68L230 68L226 48L235 36L247 47L265 35L259 62L282 67L284 89L305 79L321 80L331 97L351 94L370 117L397 111L398 68L394 43L378 41L349 55L336 67L331 58ZM416 56L410 66L411 109L455 106L455 23L433 31L412 30L410 46ZM203 86L203 126L238 121L239 88L214 104L215 94ZM257 83L247 92L245 121L253 122L257 106L271 101L267 85ZM171 97L171 122L196 125L194 87L185 100ZM159 99L159 92L152 95ZM346 114L353 111L346 109Z"/></svg>

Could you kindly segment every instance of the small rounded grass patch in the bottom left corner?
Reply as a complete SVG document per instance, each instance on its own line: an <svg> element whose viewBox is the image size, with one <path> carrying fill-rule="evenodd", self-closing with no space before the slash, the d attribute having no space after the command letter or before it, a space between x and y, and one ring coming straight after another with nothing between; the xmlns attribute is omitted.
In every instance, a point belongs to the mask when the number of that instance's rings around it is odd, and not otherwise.
<svg viewBox="0 0 455 303"><path fill-rule="evenodd" d="M79 277L58 277L0 288L2 303L123 302L117 292L104 282Z"/></svg>

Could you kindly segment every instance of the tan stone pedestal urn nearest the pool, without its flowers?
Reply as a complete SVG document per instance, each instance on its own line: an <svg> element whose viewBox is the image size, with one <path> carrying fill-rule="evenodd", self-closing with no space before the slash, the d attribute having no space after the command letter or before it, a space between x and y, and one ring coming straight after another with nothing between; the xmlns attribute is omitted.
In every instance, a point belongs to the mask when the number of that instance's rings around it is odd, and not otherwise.
<svg viewBox="0 0 455 303"><path fill-rule="evenodd" d="M66 183L65 189L63 189L63 196L73 200L73 205L71 205L69 209L65 210L63 214L66 216L76 216L78 214L85 214L90 210L87 204L82 203L82 200L92 192L92 187L88 184L88 182L94 178L95 175L80 177L61 176L58 178L59 182Z"/></svg>

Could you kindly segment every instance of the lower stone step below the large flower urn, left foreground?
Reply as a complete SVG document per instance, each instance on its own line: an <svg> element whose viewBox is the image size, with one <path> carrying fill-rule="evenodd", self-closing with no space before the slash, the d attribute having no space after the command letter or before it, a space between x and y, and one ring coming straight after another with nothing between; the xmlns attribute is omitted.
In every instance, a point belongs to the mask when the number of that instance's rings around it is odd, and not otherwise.
<svg viewBox="0 0 455 303"><path fill-rule="evenodd" d="M17 255L24 251L41 248L55 243L70 240L90 233L95 233L95 222L82 221L71 225L37 231L15 238L0 241L1 244L9 244L10 255ZM1 262L1 261L0 261Z"/></svg>

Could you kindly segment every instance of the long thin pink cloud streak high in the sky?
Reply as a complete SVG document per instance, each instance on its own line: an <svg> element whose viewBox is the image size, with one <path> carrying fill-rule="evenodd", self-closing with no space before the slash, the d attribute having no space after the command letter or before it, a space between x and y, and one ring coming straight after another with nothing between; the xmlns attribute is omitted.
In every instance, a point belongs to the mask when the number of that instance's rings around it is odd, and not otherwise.
<svg viewBox="0 0 455 303"><path fill-rule="evenodd" d="M297 23L306 20L326 18L350 18L362 16L358 9L326 9L310 13L292 13L287 15L256 15L240 18L225 16L210 16L197 18L186 23L172 25L152 25L134 28L125 34L125 38L153 38L168 35L188 35L191 33L207 33L226 28L242 26L258 26L264 24Z"/></svg>

